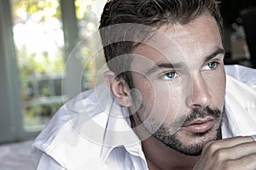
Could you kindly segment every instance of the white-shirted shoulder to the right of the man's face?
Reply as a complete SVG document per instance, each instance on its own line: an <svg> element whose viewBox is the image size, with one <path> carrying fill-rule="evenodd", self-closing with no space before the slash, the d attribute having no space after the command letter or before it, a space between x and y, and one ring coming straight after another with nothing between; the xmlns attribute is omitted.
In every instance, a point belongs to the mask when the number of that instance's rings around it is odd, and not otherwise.
<svg viewBox="0 0 256 170"><path fill-rule="evenodd" d="M255 133L256 70L240 65L225 67L225 113L229 136Z"/></svg>

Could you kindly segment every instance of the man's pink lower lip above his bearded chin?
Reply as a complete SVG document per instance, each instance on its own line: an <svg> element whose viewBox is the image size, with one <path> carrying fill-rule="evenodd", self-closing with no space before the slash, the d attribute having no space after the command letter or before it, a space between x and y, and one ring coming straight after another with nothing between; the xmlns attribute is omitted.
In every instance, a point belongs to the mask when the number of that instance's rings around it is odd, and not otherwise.
<svg viewBox="0 0 256 170"><path fill-rule="evenodd" d="M200 124L192 124L187 127L182 127L185 131L190 133L204 133L207 132L213 126L212 121L203 122Z"/></svg>

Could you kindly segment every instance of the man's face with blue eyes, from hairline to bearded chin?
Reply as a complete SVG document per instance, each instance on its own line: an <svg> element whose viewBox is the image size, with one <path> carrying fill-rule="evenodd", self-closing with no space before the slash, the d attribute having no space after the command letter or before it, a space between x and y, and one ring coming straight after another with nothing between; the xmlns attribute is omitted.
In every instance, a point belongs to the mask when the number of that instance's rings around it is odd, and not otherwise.
<svg viewBox="0 0 256 170"><path fill-rule="evenodd" d="M156 139L196 156L217 139L224 111L224 49L216 21L201 14L165 25L134 49L131 77L137 116ZM163 36L164 35L164 36ZM135 104L137 105L137 104ZM136 107L135 107L136 108Z"/></svg>

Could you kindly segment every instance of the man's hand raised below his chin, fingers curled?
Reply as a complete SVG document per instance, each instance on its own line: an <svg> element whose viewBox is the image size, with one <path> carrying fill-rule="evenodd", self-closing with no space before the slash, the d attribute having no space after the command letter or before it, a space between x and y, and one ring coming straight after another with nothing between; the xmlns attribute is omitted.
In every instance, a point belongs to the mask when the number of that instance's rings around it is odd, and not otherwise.
<svg viewBox="0 0 256 170"><path fill-rule="evenodd" d="M256 142L235 137L207 143L194 170L256 170Z"/></svg>

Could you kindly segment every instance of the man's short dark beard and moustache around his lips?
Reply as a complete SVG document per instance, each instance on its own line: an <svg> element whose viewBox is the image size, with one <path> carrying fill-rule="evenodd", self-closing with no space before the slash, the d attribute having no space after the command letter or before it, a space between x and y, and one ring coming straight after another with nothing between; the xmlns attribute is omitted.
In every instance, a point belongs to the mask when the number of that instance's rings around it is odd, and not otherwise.
<svg viewBox="0 0 256 170"><path fill-rule="evenodd" d="M141 122L145 121L145 117L143 117L141 111L138 111L137 115ZM208 129L203 133L184 133L180 128L177 129L176 133L170 134L173 128L177 128L177 124L180 123L179 120L183 118L177 118L177 120L173 123L173 126L165 127L164 124L161 124L160 127L155 130L155 132L150 132L154 136L155 139L158 139L166 146L172 148L173 150L177 150L178 152L185 154L187 156L200 156L201 150L207 142L218 139L218 134L220 133L220 127L223 120L223 112L218 109L211 109L208 106L203 109L193 109L191 114L187 116L183 124L180 127L187 126L191 122L194 122L198 118L212 117L214 122L214 126ZM147 129L153 129L151 127L155 127L156 122L148 123Z"/></svg>

